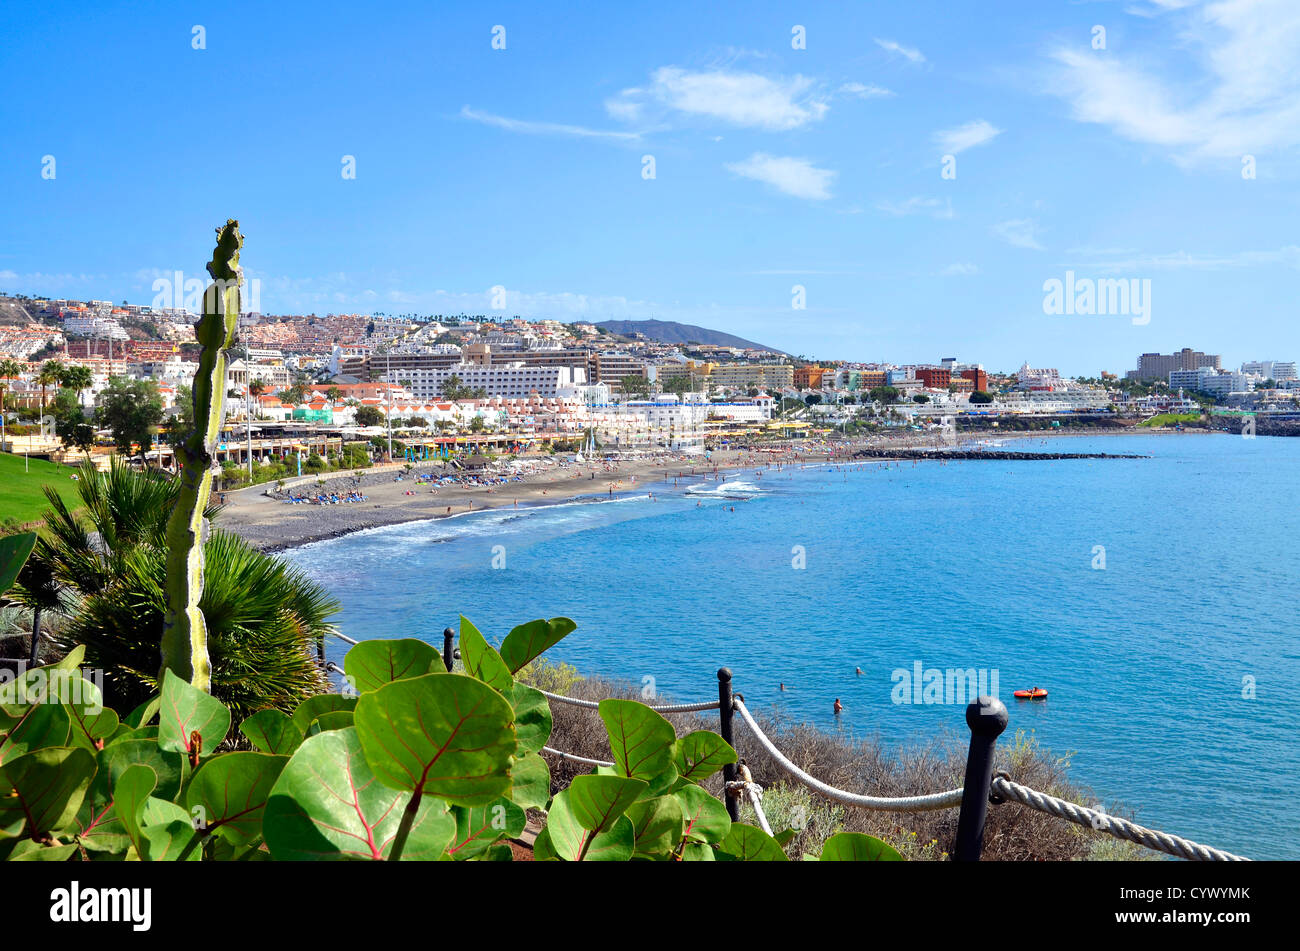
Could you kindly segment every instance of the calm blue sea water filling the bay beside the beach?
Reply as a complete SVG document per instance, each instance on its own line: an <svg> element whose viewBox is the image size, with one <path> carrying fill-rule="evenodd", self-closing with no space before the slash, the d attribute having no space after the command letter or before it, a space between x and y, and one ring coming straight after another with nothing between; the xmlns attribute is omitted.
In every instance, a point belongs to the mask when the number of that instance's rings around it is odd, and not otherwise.
<svg viewBox="0 0 1300 951"><path fill-rule="evenodd" d="M729 481L757 490L748 500L660 487L286 557L338 595L354 638L441 646L460 613L490 639L564 615L578 626L551 655L580 670L696 700L728 665L751 708L889 744L965 735L958 704L896 703L896 670L997 672L1008 735L1072 752L1108 808L1300 857L1300 439L1046 444L1152 457L745 469ZM1028 686L1049 699L1011 698Z"/></svg>

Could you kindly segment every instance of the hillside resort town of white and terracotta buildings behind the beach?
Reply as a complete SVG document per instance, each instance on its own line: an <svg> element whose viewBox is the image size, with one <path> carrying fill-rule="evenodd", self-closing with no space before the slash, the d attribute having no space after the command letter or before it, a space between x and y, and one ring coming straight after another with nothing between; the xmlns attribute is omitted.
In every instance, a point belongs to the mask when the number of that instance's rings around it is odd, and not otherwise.
<svg viewBox="0 0 1300 951"><path fill-rule="evenodd" d="M185 412L198 369L187 308L107 300L0 298L5 448L53 455L51 392L74 400L99 444L96 409L114 382L156 396L156 443L142 457L170 465L169 418ZM707 331L706 331L707 334ZM733 338L738 339L738 338ZM68 370L75 385L68 383ZM458 450L554 446L701 453L731 440L928 431L954 421L1140 421L1202 412L1295 420L1295 361L1231 370L1184 348L1143 353L1136 368L1067 378L1028 362L1014 372L939 357L928 364L810 360L759 346L666 343L592 322L488 316L247 313L228 365L229 440L218 461L330 457L363 442L370 459ZM43 424L42 420L47 420ZM30 425L25 425L30 424ZM394 434L396 434L394 437ZM81 442L88 443L90 434ZM394 439L396 447L394 447ZM72 442L75 442L73 439ZM151 440L152 442L152 440ZM21 443L21 446L20 446ZM82 447L83 450L87 447Z"/></svg>

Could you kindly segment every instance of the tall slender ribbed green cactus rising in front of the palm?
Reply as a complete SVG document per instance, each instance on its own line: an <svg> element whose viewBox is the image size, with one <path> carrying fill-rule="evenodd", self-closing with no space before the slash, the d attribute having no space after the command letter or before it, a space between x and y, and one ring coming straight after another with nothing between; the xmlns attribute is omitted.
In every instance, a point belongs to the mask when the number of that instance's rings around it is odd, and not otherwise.
<svg viewBox="0 0 1300 951"><path fill-rule="evenodd" d="M226 220L217 229L217 247L208 264L213 283L203 295L203 318L194 335L203 348L194 375L194 431L176 444L181 494L166 526L166 613L162 620L162 668L207 692L212 679L208 629L199 608L203 595L203 544L208 522L203 517L212 494L212 455L225 417L226 349L239 325L239 222Z"/></svg>

